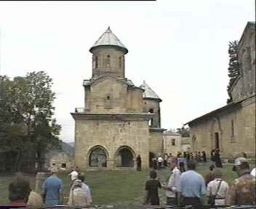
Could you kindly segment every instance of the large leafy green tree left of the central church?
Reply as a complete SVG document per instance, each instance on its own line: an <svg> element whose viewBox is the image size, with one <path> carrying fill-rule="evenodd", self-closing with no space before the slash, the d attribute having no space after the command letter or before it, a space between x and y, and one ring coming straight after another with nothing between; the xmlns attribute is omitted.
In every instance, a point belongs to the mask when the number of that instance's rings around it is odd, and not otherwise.
<svg viewBox="0 0 256 209"><path fill-rule="evenodd" d="M58 138L61 127L53 118L52 84L46 72L31 72L13 81L1 77L0 132L4 136L0 149L15 153L16 170L21 169L29 154L31 166L37 156L40 169L48 150L61 149Z"/></svg>

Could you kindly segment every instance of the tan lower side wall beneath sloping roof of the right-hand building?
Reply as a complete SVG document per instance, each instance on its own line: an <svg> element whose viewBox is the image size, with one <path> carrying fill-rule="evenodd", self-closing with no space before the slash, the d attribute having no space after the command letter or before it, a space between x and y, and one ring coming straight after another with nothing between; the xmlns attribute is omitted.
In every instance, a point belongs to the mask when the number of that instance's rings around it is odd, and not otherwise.
<svg viewBox="0 0 256 209"><path fill-rule="evenodd" d="M242 152L255 155L255 111L255 96L252 96L243 101L240 108L191 125L193 151L209 153L215 149L215 133L218 133L223 157L235 157Z"/></svg>

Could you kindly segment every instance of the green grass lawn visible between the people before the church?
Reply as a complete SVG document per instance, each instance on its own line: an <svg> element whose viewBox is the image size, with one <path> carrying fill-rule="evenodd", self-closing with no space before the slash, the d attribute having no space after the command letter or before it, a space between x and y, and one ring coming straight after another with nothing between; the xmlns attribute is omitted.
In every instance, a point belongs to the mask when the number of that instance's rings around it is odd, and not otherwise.
<svg viewBox="0 0 256 209"><path fill-rule="evenodd" d="M196 171L204 175L208 172L208 166L198 165ZM232 171L232 165L223 165L223 179L231 183L237 178L235 172ZM162 178L167 179L169 176L168 169L161 170ZM90 186L92 192L92 200L95 205L141 205L144 195L144 183L149 178L149 170L147 171L87 171L85 173L85 181ZM35 176L28 176L33 188L35 184ZM59 176L65 185L65 196L68 197L68 188L70 180L68 174ZM0 205L8 205L8 186L13 175L0 176ZM159 191L161 204L165 204L166 198L164 191ZM68 199L65 199L66 201Z"/></svg>

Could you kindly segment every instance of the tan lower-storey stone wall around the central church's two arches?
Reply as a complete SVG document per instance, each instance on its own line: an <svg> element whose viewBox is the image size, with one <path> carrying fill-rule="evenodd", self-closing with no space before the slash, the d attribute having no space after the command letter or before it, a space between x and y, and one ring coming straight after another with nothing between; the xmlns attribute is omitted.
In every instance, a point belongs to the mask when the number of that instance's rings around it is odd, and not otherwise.
<svg viewBox="0 0 256 209"><path fill-rule="evenodd" d="M107 168L116 169L117 150L126 146L134 160L142 157L142 168L149 167L149 128L147 120L76 120L75 164L81 169L90 169L89 157L93 147L102 147L107 152ZM134 164L135 165L135 164Z"/></svg>

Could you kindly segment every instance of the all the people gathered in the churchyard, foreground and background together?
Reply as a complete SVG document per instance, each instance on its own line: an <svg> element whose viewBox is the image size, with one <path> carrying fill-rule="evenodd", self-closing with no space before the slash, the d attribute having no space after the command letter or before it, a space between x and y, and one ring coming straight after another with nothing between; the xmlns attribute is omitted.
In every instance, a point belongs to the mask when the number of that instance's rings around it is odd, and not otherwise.
<svg viewBox="0 0 256 209"><path fill-rule="evenodd" d="M215 153L217 154L213 156L218 158L218 150ZM187 155L181 157L181 153L178 153L176 157L169 154L167 157L156 158L156 165L153 165L154 169L149 174L150 179L146 181L143 204L159 205L158 191L164 189L166 205L256 205L256 169L250 171L245 157L235 159L233 171L237 172L238 179L229 185L223 179L222 166L218 163L210 165L210 171L205 176L199 174L196 171L196 154L194 156L187 159ZM216 162L217 158L212 160ZM138 156L137 171L141 171L141 164L142 159ZM170 169L167 181L158 178L163 166ZM90 187L85 183L85 176L78 167L75 167L68 176L70 186L67 205L92 205ZM21 174L17 174L14 181L9 184L9 200L11 206L15 207L52 207L65 204L63 191L63 181L58 177L58 168L54 166L50 169L50 176L43 181L41 194L32 191L29 181Z"/></svg>

